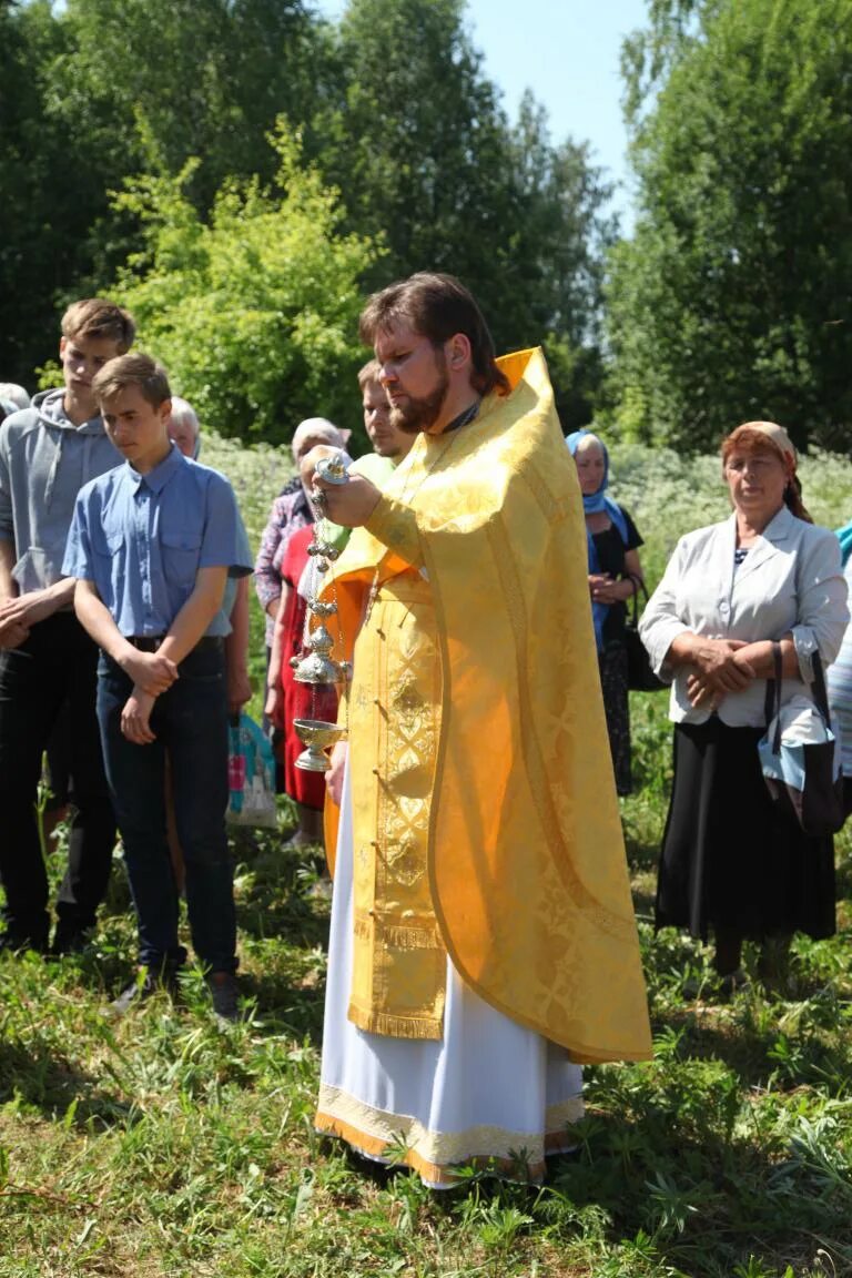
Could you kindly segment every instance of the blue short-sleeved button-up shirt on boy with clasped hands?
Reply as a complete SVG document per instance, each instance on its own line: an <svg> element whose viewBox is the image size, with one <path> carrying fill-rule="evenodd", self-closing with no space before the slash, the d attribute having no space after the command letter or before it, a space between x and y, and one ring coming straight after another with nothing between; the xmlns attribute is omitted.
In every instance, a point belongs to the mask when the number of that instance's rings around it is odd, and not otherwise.
<svg viewBox="0 0 852 1278"><path fill-rule="evenodd" d="M252 571L234 491L174 445L146 475L125 461L77 497L63 573L93 581L123 635L164 635L202 567ZM226 606L207 627L230 634Z"/></svg>

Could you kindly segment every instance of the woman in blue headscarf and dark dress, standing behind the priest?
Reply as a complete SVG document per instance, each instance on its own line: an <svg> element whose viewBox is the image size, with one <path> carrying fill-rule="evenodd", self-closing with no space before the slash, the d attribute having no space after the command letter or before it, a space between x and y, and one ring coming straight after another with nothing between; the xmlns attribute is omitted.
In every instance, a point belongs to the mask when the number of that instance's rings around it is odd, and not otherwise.
<svg viewBox="0 0 852 1278"><path fill-rule="evenodd" d="M607 495L609 454L603 441L591 431L575 431L566 443L577 468L586 516L589 593L616 790L628 795L632 781L625 601L632 598L643 580L643 539L627 511Z"/></svg>

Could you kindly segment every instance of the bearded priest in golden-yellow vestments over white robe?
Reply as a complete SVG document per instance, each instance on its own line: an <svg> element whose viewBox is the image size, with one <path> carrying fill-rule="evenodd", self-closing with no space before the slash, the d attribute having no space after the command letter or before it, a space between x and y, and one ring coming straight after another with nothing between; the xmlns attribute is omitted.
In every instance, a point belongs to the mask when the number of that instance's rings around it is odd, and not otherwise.
<svg viewBox="0 0 852 1278"><path fill-rule="evenodd" d="M432 1185L536 1177L579 1065L650 1056L582 504L542 353L496 360L459 281L376 294L361 336L418 438L382 493L321 483L359 530L317 1126Z"/></svg>

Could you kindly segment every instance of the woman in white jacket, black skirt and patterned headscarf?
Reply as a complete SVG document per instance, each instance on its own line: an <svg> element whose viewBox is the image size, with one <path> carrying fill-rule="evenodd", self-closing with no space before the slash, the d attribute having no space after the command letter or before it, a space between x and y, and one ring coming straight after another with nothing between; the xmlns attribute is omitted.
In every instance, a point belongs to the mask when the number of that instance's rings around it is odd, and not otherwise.
<svg viewBox="0 0 852 1278"><path fill-rule="evenodd" d="M782 703L810 697L814 657L834 659L848 612L837 538L802 505L783 427L737 427L722 461L733 514L681 538L640 633L655 671L673 680L657 927L713 932L729 992L745 980L745 939L761 942L761 980L783 985L793 932L834 932L833 841L806 836L773 803L757 741L773 642Z"/></svg>

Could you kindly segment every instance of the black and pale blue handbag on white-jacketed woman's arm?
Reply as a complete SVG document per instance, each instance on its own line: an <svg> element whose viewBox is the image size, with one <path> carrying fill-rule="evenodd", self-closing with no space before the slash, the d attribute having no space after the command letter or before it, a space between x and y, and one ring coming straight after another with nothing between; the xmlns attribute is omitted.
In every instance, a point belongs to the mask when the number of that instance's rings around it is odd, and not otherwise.
<svg viewBox="0 0 852 1278"><path fill-rule="evenodd" d="M825 679L819 653L814 653L814 702L823 720L820 741L786 743L780 704L780 644L773 643L775 677L766 680L766 732L757 754L769 794L806 835L837 835L846 819L839 751L832 732Z"/></svg>

